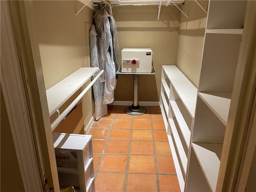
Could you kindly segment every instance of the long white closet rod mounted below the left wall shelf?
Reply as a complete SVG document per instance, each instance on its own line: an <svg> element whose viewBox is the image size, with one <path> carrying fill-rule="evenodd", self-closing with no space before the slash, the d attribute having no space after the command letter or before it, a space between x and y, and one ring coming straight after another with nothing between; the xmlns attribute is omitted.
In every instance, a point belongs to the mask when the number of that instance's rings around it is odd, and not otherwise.
<svg viewBox="0 0 256 192"><path fill-rule="evenodd" d="M78 95L78 97L56 118L56 120L51 124L52 131L60 124L62 120L64 120L67 114L76 106L76 104L82 99L82 97L86 94L86 92L92 87L92 85L96 82L96 80L101 76L104 70L101 70L100 73L90 82L90 84Z"/></svg>

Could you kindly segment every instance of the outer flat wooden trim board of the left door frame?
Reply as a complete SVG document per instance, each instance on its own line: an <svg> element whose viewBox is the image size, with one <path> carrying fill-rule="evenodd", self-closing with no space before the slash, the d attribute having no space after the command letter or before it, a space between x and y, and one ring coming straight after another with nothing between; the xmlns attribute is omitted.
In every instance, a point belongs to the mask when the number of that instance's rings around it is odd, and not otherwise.
<svg viewBox="0 0 256 192"><path fill-rule="evenodd" d="M1 1L1 85L25 191L42 191L24 81L8 1Z"/></svg>

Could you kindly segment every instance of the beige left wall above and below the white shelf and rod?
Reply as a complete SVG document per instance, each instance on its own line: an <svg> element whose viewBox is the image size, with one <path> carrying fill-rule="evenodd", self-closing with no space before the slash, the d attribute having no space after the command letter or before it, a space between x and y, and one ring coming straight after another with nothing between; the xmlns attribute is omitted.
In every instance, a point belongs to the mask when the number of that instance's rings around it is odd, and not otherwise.
<svg viewBox="0 0 256 192"><path fill-rule="evenodd" d="M40 48L42 69L46 89L52 87L66 76L81 67L90 67L89 30L93 11L87 6L76 16L76 12L84 6L79 1L34 1L36 33ZM62 112L80 94L76 92L61 108ZM83 100L84 124L88 124L94 113L92 91L89 90ZM53 116L56 116L54 114ZM51 118L52 119L52 118ZM64 124L71 124L70 131L83 132L79 124L72 124L74 119L68 118ZM76 121L76 120L74 120ZM61 125L60 125L61 126ZM81 130L77 130L77 129ZM58 129L59 131L61 129ZM63 132L66 129L63 129ZM68 132L68 131L66 131Z"/></svg>

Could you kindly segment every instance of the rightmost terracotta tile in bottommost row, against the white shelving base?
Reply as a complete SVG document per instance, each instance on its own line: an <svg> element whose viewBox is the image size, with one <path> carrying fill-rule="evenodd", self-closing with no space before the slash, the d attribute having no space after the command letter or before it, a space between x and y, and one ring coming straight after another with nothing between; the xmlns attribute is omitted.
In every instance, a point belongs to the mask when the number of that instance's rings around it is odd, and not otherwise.
<svg viewBox="0 0 256 192"><path fill-rule="evenodd" d="M180 192L177 176L159 175L160 191Z"/></svg>

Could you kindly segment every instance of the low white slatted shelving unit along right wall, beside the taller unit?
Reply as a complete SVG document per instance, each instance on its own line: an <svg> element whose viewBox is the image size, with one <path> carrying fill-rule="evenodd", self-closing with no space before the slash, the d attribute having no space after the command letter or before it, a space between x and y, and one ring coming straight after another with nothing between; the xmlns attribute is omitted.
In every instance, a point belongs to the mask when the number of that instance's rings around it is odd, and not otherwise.
<svg viewBox="0 0 256 192"><path fill-rule="evenodd" d="M181 191L186 180L196 97L196 87L176 66L162 66L160 108Z"/></svg>

